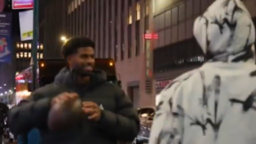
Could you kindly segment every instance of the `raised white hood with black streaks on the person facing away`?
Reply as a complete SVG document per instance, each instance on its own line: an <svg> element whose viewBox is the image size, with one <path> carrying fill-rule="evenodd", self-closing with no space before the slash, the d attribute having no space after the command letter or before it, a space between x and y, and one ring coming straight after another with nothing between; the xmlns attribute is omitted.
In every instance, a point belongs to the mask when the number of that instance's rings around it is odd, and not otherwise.
<svg viewBox="0 0 256 144"><path fill-rule="evenodd" d="M196 19L194 36L210 61L254 62L255 28L240 0L216 0Z"/></svg>

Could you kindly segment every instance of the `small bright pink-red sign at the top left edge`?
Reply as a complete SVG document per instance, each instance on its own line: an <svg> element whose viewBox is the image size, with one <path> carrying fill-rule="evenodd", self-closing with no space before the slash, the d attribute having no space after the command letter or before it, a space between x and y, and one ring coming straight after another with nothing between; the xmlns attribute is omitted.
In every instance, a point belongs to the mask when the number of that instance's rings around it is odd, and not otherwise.
<svg viewBox="0 0 256 144"><path fill-rule="evenodd" d="M34 0L12 0L12 9L33 9Z"/></svg>

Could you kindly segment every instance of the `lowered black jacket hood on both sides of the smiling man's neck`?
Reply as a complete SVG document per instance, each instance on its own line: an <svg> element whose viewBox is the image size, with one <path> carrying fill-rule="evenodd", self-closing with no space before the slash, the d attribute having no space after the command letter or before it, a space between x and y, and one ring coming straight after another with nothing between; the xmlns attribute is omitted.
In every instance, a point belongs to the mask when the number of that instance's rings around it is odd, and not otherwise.
<svg viewBox="0 0 256 144"><path fill-rule="evenodd" d="M90 75L89 87L103 83L107 81L107 74L100 69L94 69L92 75ZM76 74L70 71L69 68L62 68L57 76L54 78L54 84L76 85Z"/></svg>

